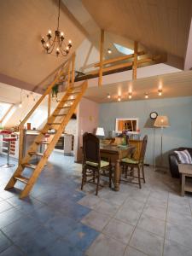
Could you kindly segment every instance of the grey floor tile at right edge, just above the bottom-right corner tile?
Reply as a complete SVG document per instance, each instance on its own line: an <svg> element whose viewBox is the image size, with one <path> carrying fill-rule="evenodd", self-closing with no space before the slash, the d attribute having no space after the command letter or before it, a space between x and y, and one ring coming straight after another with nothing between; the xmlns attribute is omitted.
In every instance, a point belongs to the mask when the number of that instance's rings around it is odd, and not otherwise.
<svg viewBox="0 0 192 256"><path fill-rule="evenodd" d="M177 241L183 246L192 248L192 229L191 227L178 226L176 224L166 224L166 239Z"/></svg>

